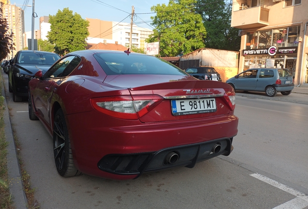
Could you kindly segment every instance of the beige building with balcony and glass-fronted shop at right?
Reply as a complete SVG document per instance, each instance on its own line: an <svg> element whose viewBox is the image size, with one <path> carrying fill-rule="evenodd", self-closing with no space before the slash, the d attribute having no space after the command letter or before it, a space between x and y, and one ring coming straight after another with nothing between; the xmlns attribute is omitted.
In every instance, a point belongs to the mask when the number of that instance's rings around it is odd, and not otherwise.
<svg viewBox="0 0 308 209"><path fill-rule="evenodd" d="M308 0L233 0L231 27L241 29L239 72L288 68L308 85Z"/></svg>

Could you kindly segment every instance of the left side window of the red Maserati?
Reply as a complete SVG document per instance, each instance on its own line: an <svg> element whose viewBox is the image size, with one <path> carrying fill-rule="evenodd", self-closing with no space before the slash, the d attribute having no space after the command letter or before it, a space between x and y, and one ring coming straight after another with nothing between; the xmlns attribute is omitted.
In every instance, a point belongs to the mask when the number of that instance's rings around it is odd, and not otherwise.
<svg viewBox="0 0 308 209"><path fill-rule="evenodd" d="M63 60L58 61L52 68L50 68L44 78L64 77L72 73L72 71L80 63L81 59L76 56L69 56Z"/></svg>

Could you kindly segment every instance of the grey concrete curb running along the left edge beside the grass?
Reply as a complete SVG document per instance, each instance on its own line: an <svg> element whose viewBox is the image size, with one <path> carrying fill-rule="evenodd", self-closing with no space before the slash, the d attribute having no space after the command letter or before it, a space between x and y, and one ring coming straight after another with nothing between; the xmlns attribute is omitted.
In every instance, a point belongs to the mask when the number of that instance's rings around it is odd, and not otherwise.
<svg viewBox="0 0 308 209"><path fill-rule="evenodd" d="M2 72L1 72L2 73ZM3 75L3 74L2 74ZM13 136L13 131L11 127L11 120L9 117L9 110L6 102L6 96L4 91L4 83L3 80L1 81L2 90L1 95L4 97L4 106L6 107L6 110L4 110L3 116L4 116L4 124L5 128L5 136L6 141L9 143L7 147L7 168L8 168L8 179L9 179L9 188L10 193L13 197L13 206L15 209L27 209L27 197L23 189L23 183L21 179L21 172L19 167L19 162L17 158L17 151ZM10 124L10 125L7 125Z"/></svg>

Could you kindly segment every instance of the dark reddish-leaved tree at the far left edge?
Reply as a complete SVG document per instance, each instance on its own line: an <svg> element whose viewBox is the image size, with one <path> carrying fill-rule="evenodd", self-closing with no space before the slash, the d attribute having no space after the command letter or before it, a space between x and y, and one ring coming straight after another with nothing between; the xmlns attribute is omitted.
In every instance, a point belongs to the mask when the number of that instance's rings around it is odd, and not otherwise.
<svg viewBox="0 0 308 209"><path fill-rule="evenodd" d="M2 13L1 8L0 13ZM7 21L0 18L0 60L4 60L10 51L14 49L12 44L12 36L13 33L9 33Z"/></svg>

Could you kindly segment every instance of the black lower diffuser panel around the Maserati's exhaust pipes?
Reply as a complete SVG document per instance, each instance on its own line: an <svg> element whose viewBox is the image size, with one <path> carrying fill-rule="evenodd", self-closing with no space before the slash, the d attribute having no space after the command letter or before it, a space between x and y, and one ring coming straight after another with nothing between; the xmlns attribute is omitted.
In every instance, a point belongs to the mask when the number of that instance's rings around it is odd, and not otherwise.
<svg viewBox="0 0 308 209"><path fill-rule="evenodd" d="M208 142L171 147L154 153L110 154L103 157L97 164L98 168L115 175L137 175L176 166L193 168L196 163L216 157L228 156L233 150L233 138L216 139ZM219 151L215 147L219 146ZM168 162L169 154L176 154L175 162Z"/></svg>

